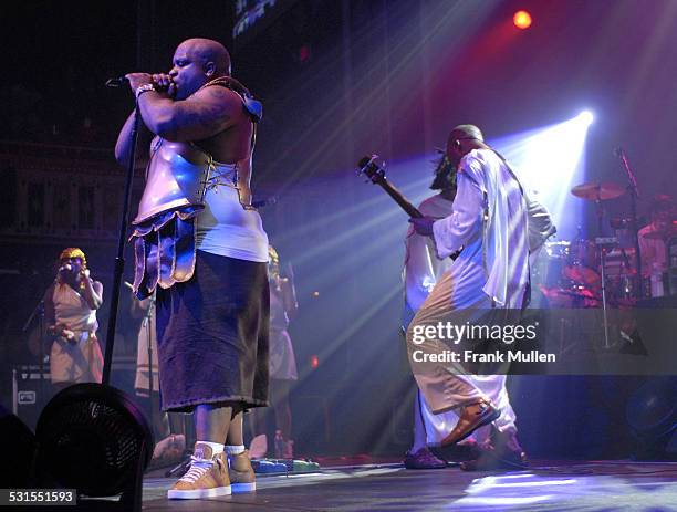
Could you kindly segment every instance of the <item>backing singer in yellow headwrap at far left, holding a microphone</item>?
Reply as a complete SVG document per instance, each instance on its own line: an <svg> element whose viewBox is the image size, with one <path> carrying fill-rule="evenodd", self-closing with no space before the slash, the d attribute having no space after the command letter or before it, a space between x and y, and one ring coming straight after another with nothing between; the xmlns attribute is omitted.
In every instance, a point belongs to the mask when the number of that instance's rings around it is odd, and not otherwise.
<svg viewBox="0 0 677 512"><path fill-rule="evenodd" d="M59 273L45 293L44 316L54 343L50 374L56 390L75 383L101 383L103 355L96 341L96 310L103 285L90 278L87 259L77 248L64 249Z"/></svg>

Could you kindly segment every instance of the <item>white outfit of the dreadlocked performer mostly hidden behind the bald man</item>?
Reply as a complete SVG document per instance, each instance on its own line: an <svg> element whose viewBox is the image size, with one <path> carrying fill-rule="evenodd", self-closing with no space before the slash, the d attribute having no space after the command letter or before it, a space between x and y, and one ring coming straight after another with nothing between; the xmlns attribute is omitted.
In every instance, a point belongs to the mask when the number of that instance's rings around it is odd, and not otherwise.
<svg viewBox="0 0 677 512"><path fill-rule="evenodd" d="M452 212L452 201L440 195L424 200L418 210L426 217L446 218ZM405 327L414 316L414 313L423 305L434 286L441 280L442 275L451 269L451 258L442 260L437 258L435 244L428 237L417 234L414 228L409 228L405 241ZM480 388L497 405L502 414L497 420L501 429L514 428L515 415L508 399L504 375L468 375L478 388ZM440 446L442 439L456 427L458 415L455 410L434 414L430 410L424 395L418 393L419 410L428 446ZM490 435L490 427L482 427L472 433L478 442L483 441Z"/></svg>

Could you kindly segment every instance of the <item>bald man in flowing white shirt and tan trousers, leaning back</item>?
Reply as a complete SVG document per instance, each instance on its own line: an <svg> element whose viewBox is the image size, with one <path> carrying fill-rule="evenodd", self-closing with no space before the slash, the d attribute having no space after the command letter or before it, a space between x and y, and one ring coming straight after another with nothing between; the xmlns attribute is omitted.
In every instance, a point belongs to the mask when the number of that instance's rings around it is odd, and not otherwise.
<svg viewBox="0 0 677 512"><path fill-rule="evenodd" d="M530 200L512 169L485 144L476 126L459 125L451 130L447 157L458 166L451 215L410 222L417 233L431 238L438 258L461 252L408 326L409 361L431 412L454 410L459 416L441 440L442 446L459 442L478 428L492 425L501 446L521 461L524 457L514 422L504 421L504 415L511 412L507 407L504 375L481 376L499 384L503 400L499 405L467 366L442 362L439 356L449 346L441 336L420 333L440 322L518 323L530 296L530 254L555 229L548 211ZM416 351L427 355L425 363L413 358ZM504 374L507 368L499 370L496 373Z"/></svg>

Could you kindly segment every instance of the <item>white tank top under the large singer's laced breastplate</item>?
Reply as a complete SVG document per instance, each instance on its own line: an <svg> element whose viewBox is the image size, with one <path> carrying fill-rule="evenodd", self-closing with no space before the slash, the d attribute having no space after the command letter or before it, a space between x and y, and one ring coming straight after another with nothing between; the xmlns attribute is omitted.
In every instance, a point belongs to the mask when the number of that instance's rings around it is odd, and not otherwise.
<svg viewBox="0 0 677 512"><path fill-rule="evenodd" d="M267 262L268 236L259 212L240 203L236 165L213 164L205 210L197 217L197 248L238 260Z"/></svg>

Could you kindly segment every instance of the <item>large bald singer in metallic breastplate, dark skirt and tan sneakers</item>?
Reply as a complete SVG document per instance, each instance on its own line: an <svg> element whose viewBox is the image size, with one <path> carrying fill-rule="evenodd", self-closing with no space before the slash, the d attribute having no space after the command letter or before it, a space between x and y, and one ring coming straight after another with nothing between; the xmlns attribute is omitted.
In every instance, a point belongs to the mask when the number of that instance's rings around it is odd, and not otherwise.
<svg viewBox="0 0 677 512"><path fill-rule="evenodd" d="M250 189L261 104L207 39L180 43L168 74L126 79L155 135L133 222L134 289L157 290L162 407L195 412L192 462L168 497L251 491L242 411L268 405L268 237ZM132 127L131 116L115 147L125 165Z"/></svg>

